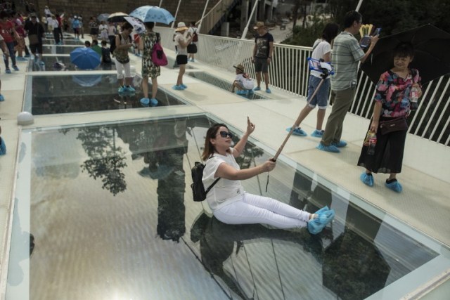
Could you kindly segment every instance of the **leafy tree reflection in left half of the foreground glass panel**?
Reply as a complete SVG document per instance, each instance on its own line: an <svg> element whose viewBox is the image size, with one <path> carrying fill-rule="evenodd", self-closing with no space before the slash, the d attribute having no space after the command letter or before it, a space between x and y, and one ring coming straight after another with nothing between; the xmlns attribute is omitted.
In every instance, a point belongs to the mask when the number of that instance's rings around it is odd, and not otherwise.
<svg viewBox="0 0 450 300"><path fill-rule="evenodd" d="M113 195L127 189L125 175L120 170L127 167L125 152L115 145L115 128L84 128L80 129L77 139L82 141L86 154L90 159L82 165L89 176L101 178L102 188L109 190Z"/></svg>

